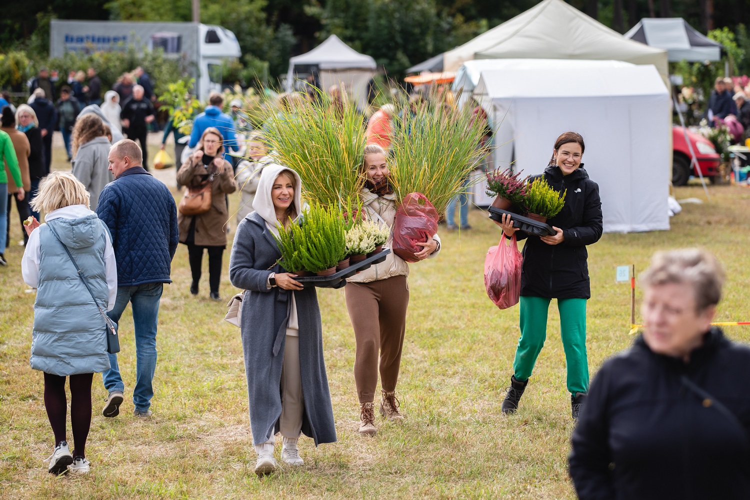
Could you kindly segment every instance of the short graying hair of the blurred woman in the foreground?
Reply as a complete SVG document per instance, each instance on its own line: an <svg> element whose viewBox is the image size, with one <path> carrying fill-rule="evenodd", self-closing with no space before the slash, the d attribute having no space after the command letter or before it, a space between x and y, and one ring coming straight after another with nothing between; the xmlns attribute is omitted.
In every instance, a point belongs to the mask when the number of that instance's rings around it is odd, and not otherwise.
<svg viewBox="0 0 750 500"><path fill-rule="evenodd" d="M651 265L640 275L643 286L670 283L691 286L698 312L715 306L721 300L724 270L712 254L699 248L682 248L657 252Z"/></svg>

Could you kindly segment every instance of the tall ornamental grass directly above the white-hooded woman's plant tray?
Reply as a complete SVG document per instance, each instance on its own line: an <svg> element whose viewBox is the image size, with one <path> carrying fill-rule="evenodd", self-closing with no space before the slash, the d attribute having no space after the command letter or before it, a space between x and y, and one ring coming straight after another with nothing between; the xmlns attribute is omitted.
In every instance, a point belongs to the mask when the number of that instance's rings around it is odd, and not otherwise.
<svg viewBox="0 0 750 500"><path fill-rule="evenodd" d="M359 193L365 127L353 103L334 106L324 93L309 102L290 94L266 113L264 134L271 156L302 178L302 196L321 205L344 205Z"/></svg>

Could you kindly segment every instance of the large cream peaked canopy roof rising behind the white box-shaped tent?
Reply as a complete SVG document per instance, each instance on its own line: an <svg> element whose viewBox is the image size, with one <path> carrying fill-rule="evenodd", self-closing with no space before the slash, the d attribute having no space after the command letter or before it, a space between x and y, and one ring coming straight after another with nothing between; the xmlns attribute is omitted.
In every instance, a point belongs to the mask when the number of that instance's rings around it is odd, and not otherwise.
<svg viewBox="0 0 750 500"><path fill-rule="evenodd" d="M472 59L607 59L653 64L669 80L667 51L628 40L562 0L544 0L445 53L443 70Z"/></svg>

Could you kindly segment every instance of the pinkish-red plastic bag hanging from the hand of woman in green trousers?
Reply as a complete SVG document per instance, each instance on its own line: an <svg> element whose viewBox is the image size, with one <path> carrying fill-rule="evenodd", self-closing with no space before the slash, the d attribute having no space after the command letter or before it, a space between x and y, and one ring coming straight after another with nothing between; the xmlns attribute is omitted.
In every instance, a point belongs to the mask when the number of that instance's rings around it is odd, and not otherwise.
<svg viewBox="0 0 750 500"><path fill-rule="evenodd" d="M484 288L490 300L500 309L518 304L520 298L520 268L523 256L518 251L515 235L510 240L500 237L496 247L484 257Z"/></svg>

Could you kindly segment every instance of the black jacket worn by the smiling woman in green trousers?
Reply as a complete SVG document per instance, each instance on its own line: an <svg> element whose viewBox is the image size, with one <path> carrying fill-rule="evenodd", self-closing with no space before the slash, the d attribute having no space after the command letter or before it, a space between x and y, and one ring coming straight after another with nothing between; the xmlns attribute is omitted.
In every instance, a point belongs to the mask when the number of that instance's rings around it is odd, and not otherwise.
<svg viewBox="0 0 750 500"><path fill-rule="evenodd" d="M601 238L601 199L599 187L589 179L583 164L569 175L558 166L547 166L544 178L560 192L568 190L565 206L547 220L562 229L565 241L548 245L538 236L516 232L516 238L528 238L523 247L520 295L547 298L590 298L589 266L586 245ZM538 178L541 175L532 177Z"/></svg>

